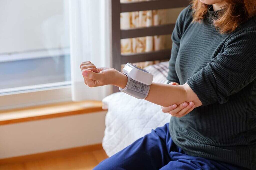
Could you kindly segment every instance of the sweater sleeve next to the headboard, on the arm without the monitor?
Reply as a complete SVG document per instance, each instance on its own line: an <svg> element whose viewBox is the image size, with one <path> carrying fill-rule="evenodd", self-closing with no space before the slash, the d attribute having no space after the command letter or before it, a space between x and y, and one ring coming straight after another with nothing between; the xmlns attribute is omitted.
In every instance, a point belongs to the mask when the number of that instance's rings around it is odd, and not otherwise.
<svg viewBox="0 0 256 170"><path fill-rule="evenodd" d="M176 21L175 28L172 33L172 54L171 58L169 60L169 71L167 76L167 84L170 82L176 82L180 83L176 70L175 70L175 62L176 58L179 52L179 44L180 44L180 38L182 37L183 32L186 29L186 26L188 25L189 21L191 20L191 5L183 9Z"/></svg>

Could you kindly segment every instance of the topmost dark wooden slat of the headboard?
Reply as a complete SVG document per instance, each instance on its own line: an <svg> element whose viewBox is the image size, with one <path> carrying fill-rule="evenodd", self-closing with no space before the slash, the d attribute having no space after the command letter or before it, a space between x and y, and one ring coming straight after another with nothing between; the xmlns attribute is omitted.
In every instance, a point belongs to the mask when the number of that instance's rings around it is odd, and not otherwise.
<svg viewBox="0 0 256 170"><path fill-rule="evenodd" d="M120 1L120 0L116 0ZM121 12L132 11L146 11L154 9L168 9L186 7L189 5L188 0L157 0L157 1L144 1L134 3L121 3Z"/></svg>

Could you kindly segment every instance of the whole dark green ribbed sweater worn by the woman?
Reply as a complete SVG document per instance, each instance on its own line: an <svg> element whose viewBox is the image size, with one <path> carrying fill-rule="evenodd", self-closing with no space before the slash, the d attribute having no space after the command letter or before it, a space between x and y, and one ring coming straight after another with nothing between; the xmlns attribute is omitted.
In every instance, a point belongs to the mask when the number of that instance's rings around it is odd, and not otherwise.
<svg viewBox="0 0 256 170"><path fill-rule="evenodd" d="M220 34L214 14L192 23L188 6L177 19L167 79L187 82L203 106L172 117L170 135L188 155L256 169L256 21Z"/></svg>

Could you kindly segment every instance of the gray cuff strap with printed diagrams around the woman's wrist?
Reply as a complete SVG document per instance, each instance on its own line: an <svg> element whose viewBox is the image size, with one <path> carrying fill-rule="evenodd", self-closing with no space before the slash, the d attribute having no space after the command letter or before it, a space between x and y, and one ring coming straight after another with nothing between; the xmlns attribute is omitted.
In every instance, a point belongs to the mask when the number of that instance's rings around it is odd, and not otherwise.
<svg viewBox="0 0 256 170"><path fill-rule="evenodd" d="M129 75L126 73L123 74L125 74L128 77L128 81L125 88L122 89L119 87L119 90L133 97L136 97L137 99L145 99L148 95L150 86L131 79Z"/></svg>

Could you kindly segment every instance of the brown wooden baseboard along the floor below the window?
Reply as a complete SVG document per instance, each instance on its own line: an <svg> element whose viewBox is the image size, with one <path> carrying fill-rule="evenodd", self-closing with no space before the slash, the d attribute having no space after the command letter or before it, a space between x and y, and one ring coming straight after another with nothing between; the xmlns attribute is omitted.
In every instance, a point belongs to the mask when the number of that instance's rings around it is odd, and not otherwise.
<svg viewBox="0 0 256 170"><path fill-rule="evenodd" d="M36 154L30 154L30 155L16 156L16 157L11 157L11 158L0 159L0 165L10 164L10 163L21 163L21 162L26 162L26 161L38 160L38 159L63 156L65 154L71 155L71 154L89 152L89 151L100 150L100 149L103 149L102 143L88 145L88 146L81 146L81 147L76 147L76 148L36 153Z"/></svg>

